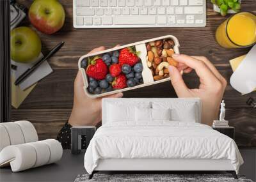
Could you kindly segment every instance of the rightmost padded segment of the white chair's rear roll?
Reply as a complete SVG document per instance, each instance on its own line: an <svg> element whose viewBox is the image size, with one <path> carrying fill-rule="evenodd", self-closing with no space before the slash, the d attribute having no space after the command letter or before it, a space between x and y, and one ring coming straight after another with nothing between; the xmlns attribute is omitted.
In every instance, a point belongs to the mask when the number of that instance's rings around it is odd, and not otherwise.
<svg viewBox="0 0 256 182"><path fill-rule="evenodd" d="M29 121L15 121L17 123L24 135L25 143L38 141L38 135L36 133L35 127Z"/></svg>

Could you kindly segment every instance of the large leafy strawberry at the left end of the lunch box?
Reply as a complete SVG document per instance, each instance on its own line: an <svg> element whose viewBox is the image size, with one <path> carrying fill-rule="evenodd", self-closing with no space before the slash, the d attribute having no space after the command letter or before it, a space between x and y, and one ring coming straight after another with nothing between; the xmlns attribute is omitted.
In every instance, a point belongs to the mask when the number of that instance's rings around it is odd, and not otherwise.
<svg viewBox="0 0 256 182"><path fill-rule="evenodd" d="M88 66L86 74L89 77L97 80L105 79L108 73L108 66L102 61L100 57L94 57L92 60L88 59Z"/></svg>

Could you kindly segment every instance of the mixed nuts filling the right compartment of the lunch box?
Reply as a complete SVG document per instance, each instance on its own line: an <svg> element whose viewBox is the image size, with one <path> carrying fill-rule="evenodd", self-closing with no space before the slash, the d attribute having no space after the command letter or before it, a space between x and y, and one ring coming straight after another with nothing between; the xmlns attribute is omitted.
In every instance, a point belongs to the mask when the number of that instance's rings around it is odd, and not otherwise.
<svg viewBox="0 0 256 182"><path fill-rule="evenodd" d="M156 40L146 43L147 66L150 68L154 80L161 80L169 76L168 66L177 66L172 58L174 42L171 39Z"/></svg>

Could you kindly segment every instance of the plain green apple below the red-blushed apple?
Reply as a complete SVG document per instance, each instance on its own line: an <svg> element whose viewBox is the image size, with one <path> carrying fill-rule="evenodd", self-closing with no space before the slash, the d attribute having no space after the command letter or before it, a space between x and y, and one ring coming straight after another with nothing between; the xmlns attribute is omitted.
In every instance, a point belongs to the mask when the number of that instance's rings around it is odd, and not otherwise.
<svg viewBox="0 0 256 182"><path fill-rule="evenodd" d="M17 27L11 31L11 58L20 63L29 63L41 52L41 40L29 27Z"/></svg>

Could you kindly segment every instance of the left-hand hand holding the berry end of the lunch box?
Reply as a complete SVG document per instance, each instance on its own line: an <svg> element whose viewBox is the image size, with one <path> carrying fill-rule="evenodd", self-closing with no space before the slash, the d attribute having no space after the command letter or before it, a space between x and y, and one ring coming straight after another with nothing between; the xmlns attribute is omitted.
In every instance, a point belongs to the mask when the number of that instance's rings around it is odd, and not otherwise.
<svg viewBox="0 0 256 182"><path fill-rule="evenodd" d="M104 47L93 49L89 53L104 50ZM74 83L74 104L68 119L72 126L90 125L95 126L101 121L101 100L102 98L90 98L84 93L82 73L78 72ZM120 98L122 93L109 95L104 98Z"/></svg>

